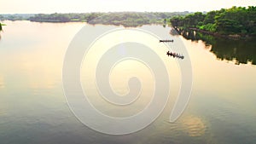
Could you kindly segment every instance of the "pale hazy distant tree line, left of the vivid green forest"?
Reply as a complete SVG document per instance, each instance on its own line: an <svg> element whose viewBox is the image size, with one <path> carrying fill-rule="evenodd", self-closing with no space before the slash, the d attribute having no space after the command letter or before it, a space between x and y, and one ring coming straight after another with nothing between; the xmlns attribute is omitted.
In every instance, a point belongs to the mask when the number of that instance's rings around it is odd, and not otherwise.
<svg viewBox="0 0 256 144"><path fill-rule="evenodd" d="M36 22L87 22L89 24L125 27L163 24L174 16L192 14L185 12L114 12L82 14L0 14L0 20L30 20Z"/></svg>

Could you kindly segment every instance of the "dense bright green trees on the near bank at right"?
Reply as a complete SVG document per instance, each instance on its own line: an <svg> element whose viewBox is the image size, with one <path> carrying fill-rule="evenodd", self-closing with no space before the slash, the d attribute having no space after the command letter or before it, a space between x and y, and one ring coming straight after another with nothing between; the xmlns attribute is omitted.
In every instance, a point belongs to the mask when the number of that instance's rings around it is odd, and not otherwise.
<svg viewBox="0 0 256 144"><path fill-rule="evenodd" d="M172 26L179 29L192 29L212 34L256 36L256 7L232 7L210 11L207 14L196 12L170 19Z"/></svg>

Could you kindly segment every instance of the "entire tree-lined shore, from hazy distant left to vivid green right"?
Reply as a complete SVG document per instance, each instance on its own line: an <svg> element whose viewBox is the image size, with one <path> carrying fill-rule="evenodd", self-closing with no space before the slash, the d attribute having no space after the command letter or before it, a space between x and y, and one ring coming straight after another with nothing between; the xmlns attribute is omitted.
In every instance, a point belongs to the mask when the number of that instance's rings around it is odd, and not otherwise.
<svg viewBox="0 0 256 144"><path fill-rule="evenodd" d="M256 37L256 7L232 7L210 12L114 12L70 14L0 14L0 20L86 22L91 25L137 27L170 25L178 31L202 32L233 39ZM3 26L3 25L2 25Z"/></svg>

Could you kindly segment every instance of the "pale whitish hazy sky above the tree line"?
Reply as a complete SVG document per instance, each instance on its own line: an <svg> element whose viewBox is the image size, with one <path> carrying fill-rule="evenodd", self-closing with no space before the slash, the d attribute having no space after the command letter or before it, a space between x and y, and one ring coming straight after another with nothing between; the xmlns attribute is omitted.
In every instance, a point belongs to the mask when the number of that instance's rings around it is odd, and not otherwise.
<svg viewBox="0 0 256 144"><path fill-rule="evenodd" d="M0 14L113 11L209 11L256 6L256 0L1 0Z"/></svg>

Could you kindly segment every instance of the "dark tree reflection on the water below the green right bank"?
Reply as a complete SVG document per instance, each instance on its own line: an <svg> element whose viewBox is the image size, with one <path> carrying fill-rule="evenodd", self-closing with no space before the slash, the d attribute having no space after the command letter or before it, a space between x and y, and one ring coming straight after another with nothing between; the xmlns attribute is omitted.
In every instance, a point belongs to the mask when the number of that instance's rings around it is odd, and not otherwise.
<svg viewBox="0 0 256 144"><path fill-rule="evenodd" d="M170 33L172 35L182 35L184 38L192 41L202 40L207 46L212 45L210 51L217 56L218 60L235 61L236 65L248 63L256 65L255 38L235 40L179 29L172 29Z"/></svg>

